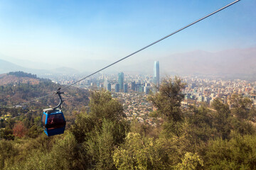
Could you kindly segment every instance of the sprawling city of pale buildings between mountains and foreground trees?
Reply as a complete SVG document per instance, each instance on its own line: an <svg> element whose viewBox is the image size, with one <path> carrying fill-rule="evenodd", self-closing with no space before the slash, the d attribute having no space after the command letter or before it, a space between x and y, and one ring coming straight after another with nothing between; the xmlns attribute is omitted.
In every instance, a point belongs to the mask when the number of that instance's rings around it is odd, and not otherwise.
<svg viewBox="0 0 256 170"><path fill-rule="evenodd" d="M124 74L99 74L86 81L81 81L78 86L85 89L106 89L111 91L114 98L123 104L124 113L127 119L137 118L139 122L154 125L149 113L153 111L147 96L154 93L154 77L151 75L130 75ZM173 77L174 78L174 77ZM127 86L127 91L120 88L120 79L123 79L121 86ZM250 98L252 105L256 105L256 81L245 81L241 79L205 79L199 77L181 77L186 84L183 89L184 100L181 102L183 108L192 104L200 106L202 103L210 106L215 98L220 98L223 103L230 105L230 97L233 94L240 94ZM72 84L76 79L54 79L56 83ZM119 84L119 89L117 89ZM126 85L125 85L126 84ZM232 107L232 106L230 106Z"/></svg>

